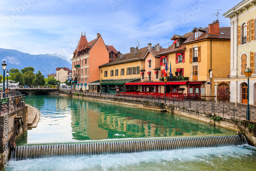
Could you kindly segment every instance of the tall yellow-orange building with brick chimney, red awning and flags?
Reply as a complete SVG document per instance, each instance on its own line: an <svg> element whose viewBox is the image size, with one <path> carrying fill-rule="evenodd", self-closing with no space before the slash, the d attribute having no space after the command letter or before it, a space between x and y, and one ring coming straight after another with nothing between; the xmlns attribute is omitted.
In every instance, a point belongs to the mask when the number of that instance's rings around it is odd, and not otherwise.
<svg viewBox="0 0 256 171"><path fill-rule="evenodd" d="M166 92L184 88L187 94L214 96L215 83L212 79L226 78L229 74L230 27L220 28L216 20L209 27L194 28L183 36L174 35L171 40L174 44L159 54L160 63L167 60L171 68L168 76L173 75L172 79L176 77L178 82L167 86Z"/></svg>

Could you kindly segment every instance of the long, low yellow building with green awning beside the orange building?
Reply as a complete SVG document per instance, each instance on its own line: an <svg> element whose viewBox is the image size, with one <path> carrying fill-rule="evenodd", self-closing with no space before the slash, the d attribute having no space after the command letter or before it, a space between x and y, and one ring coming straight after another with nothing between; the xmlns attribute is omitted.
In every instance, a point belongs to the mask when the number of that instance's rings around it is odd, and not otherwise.
<svg viewBox="0 0 256 171"><path fill-rule="evenodd" d="M159 80L159 72L156 72L160 70L159 56L156 54L163 50L159 44L155 47L148 44L141 49L132 47L130 53L120 54L117 59L99 66L101 83L98 80L89 83L89 86L101 86L101 92L105 93L142 91L138 84L140 80Z"/></svg>

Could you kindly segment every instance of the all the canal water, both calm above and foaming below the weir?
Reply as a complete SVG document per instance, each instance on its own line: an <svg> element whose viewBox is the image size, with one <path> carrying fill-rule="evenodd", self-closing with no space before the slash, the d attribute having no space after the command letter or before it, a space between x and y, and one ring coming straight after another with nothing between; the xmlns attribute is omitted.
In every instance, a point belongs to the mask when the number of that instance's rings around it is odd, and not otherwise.
<svg viewBox="0 0 256 171"><path fill-rule="evenodd" d="M230 135L233 131L181 116L59 96L26 96L41 112L17 142L67 143L113 138ZM250 145L9 161L5 170L255 170Z"/></svg>

